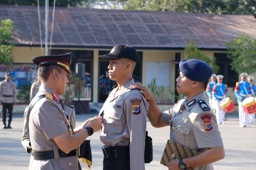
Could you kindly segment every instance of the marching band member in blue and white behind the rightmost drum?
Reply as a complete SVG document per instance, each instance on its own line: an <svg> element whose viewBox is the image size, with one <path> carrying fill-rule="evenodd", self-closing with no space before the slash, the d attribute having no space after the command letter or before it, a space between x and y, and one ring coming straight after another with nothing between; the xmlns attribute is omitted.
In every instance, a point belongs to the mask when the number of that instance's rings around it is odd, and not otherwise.
<svg viewBox="0 0 256 170"><path fill-rule="evenodd" d="M240 128L243 127L250 127L248 123L250 121L250 115L246 113L244 106L242 105L242 101L250 96L251 87L248 82L246 82L246 77L248 76L247 73L243 72L240 74L241 81L236 83L235 87L235 95L238 101L238 108L239 108L239 123Z"/></svg>

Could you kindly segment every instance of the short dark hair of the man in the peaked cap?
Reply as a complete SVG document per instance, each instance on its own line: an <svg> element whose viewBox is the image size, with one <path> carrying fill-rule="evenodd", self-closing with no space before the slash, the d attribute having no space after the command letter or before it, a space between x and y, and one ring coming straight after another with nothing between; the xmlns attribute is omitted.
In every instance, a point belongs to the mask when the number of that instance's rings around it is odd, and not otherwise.
<svg viewBox="0 0 256 170"><path fill-rule="evenodd" d="M40 81L46 82L54 69L56 69L60 73L63 71L62 67L55 65L55 64L40 66L38 68L38 77L39 77Z"/></svg>

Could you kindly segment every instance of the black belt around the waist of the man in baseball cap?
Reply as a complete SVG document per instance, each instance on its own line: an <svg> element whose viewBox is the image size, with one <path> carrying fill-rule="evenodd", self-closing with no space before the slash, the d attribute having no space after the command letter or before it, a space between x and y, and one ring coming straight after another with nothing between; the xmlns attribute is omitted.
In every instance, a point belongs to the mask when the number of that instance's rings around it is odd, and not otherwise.
<svg viewBox="0 0 256 170"><path fill-rule="evenodd" d="M121 158L130 156L129 146L116 146L116 147L102 147L103 155L105 158Z"/></svg>

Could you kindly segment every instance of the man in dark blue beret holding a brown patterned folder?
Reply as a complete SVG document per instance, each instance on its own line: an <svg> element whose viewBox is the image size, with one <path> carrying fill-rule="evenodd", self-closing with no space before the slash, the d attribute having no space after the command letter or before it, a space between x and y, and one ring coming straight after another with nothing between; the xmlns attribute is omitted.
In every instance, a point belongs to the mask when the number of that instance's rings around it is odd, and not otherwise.
<svg viewBox="0 0 256 170"><path fill-rule="evenodd" d="M149 102L148 119L153 127L170 126L170 140L201 152L191 158L173 159L168 163L168 168L213 170L211 163L223 159L225 150L216 116L205 97L212 69L197 59L182 60L179 66L181 72L176 79L176 88L179 94L185 94L186 97L165 112L157 108L154 97L141 83L130 87L141 89L140 93Z"/></svg>

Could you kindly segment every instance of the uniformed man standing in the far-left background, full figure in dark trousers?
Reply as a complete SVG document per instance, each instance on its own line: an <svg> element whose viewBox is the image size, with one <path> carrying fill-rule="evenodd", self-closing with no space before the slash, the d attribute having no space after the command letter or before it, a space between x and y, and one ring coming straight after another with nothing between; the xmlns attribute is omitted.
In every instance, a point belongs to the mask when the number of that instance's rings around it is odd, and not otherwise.
<svg viewBox="0 0 256 170"><path fill-rule="evenodd" d="M11 81L11 73L5 72L5 80L0 82L0 105L2 105L3 129L11 129L13 105L16 104L16 84ZM6 110L8 109L8 126L6 127Z"/></svg>

